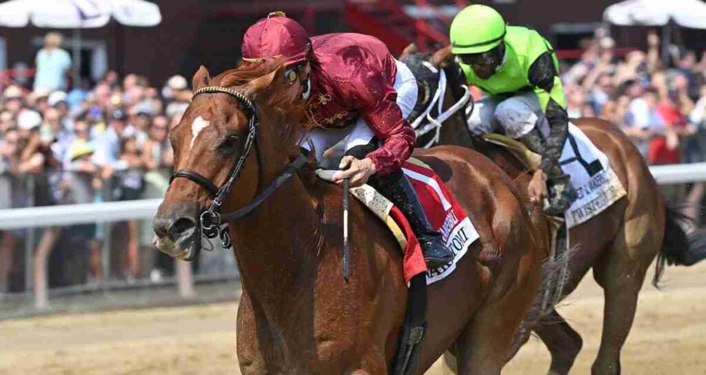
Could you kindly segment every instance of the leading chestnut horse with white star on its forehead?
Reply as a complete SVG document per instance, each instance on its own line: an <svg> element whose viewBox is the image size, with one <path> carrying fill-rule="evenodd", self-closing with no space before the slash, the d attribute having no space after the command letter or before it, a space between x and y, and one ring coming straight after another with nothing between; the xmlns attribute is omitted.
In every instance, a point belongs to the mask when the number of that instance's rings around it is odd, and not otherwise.
<svg viewBox="0 0 706 375"><path fill-rule="evenodd" d="M352 200L345 282L340 186L317 181L311 160L286 182L278 178L301 156L295 140L305 130L302 88L286 81L285 69L275 60L215 78L201 66L193 76L193 100L169 134L174 176L183 178L173 179L155 215L157 247L193 259L207 207L219 200L224 210L248 208L228 230L242 284L242 373L388 374L407 304L402 254L383 222ZM248 157L251 147L257 157ZM427 289L414 374L452 346L459 374L500 374L542 277L532 223L513 182L486 157L455 146L415 155L453 191L480 239ZM254 198L261 191L271 194Z"/></svg>

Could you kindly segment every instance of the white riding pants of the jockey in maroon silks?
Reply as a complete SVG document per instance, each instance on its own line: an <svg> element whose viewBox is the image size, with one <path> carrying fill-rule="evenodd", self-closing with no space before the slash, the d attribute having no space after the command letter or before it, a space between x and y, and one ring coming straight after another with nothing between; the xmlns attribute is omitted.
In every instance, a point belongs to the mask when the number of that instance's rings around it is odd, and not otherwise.
<svg viewBox="0 0 706 375"><path fill-rule="evenodd" d="M396 102L402 110L402 117L406 118L412 112L414 105L417 104L417 79L414 78L414 74L405 63L395 60L395 64L397 65L397 74L393 88L397 92ZM374 136L375 133L370 129L368 123L359 118L354 124L342 129L312 129L301 138L299 145L309 151L313 146L316 151L316 160L321 161L325 150L332 148L344 139L345 151L347 151L357 145L367 145Z"/></svg>

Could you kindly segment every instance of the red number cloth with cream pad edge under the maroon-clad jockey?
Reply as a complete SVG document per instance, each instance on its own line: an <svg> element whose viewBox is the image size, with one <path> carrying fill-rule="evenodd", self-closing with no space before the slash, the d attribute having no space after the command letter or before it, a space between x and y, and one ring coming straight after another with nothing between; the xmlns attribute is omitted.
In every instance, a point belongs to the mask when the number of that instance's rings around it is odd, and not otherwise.
<svg viewBox="0 0 706 375"><path fill-rule="evenodd" d="M441 232L444 244L455 254L453 261L440 268L426 268L421 247L407 218L387 198L369 185L351 189L351 194L383 220L395 235L400 247L405 251L402 267L405 280L409 282L415 275L426 272L426 284L429 285L453 273L456 263L479 236L468 215L429 166L419 160L410 159L402 165L402 172L405 172L417 192L431 226ZM335 171L318 170L316 173L322 179L330 180Z"/></svg>

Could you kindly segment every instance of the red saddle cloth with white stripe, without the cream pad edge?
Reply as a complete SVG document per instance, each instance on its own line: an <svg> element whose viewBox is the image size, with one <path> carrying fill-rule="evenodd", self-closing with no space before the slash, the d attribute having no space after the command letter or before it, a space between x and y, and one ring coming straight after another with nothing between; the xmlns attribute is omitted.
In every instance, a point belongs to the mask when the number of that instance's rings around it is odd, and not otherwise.
<svg viewBox="0 0 706 375"><path fill-rule="evenodd" d="M393 206L390 217L395 220L407 239L403 266L405 280L409 282L415 275L426 272L426 282L431 284L453 272L456 262L465 254L468 246L478 238L478 233L465 210L461 208L433 169L419 162L407 161L402 165L402 172L405 172L414 191L417 192L429 223L435 230L441 232L444 243L456 255L447 265L436 270L428 270L424 255L421 253L421 246L412 232L409 221L397 207Z"/></svg>

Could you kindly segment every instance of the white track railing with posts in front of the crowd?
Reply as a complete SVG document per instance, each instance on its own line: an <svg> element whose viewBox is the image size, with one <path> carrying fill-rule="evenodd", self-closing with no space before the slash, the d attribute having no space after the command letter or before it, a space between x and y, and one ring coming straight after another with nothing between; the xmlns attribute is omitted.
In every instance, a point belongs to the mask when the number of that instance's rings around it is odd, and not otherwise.
<svg viewBox="0 0 706 375"><path fill-rule="evenodd" d="M706 162L683 165L659 165L650 167L650 172L659 184L682 184L706 181ZM76 204L0 210L0 230L28 227L63 227L91 222L112 222L129 219L150 219L157 212L161 199L121 201L108 203ZM32 257L35 282L32 290L35 307L47 306L47 256L48 251L37 251ZM182 297L194 295L193 275L189 263L177 263L177 284Z"/></svg>

